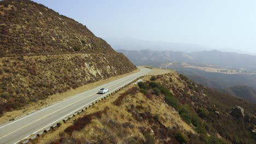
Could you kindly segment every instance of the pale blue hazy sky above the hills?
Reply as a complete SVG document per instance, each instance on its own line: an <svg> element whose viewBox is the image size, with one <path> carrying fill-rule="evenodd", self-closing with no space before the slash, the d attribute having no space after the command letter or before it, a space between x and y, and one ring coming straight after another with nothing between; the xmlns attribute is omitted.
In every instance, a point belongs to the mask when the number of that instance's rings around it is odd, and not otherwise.
<svg viewBox="0 0 256 144"><path fill-rule="evenodd" d="M36 0L97 37L199 44L256 53L255 0Z"/></svg>

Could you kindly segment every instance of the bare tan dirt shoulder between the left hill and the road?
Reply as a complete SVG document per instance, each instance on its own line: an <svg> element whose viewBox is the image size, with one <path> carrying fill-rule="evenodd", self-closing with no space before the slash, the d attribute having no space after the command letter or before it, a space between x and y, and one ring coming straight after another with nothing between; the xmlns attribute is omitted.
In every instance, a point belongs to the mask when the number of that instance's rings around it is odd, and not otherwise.
<svg viewBox="0 0 256 144"><path fill-rule="evenodd" d="M67 98L71 97L72 95L75 95L75 94L78 94L78 93L81 93L84 91L88 91L89 89L96 88L98 86L103 85L104 83L108 83L108 82L120 79L121 77L125 77L127 75L137 73L138 71L139 71L139 69L132 71L131 73L110 77L109 79L100 80L100 81L97 81L94 83L89 83L88 85L84 85L84 86L81 86L81 87L78 87L75 89L70 89L64 93L57 93L54 95L50 95L47 99L39 100L36 103L32 102L32 103L22 107L20 110L15 110L15 111L4 113L4 115L2 117L0 117L0 124L14 120L18 117L27 115L28 113L32 113L34 110L40 110L45 106L59 103L59 101L67 99Z"/></svg>

